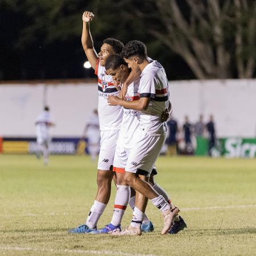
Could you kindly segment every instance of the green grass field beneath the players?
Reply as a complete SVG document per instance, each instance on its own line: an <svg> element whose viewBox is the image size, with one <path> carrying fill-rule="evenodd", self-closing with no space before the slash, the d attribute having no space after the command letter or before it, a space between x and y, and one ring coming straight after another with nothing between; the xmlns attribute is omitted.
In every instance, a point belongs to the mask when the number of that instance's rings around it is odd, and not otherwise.
<svg viewBox="0 0 256 256"><path fill-rule="evenodd" d="M155 231L141 237L69 234L85 221L96 193L88 156L0 155L0 255L255 255L256 159L167 158L156 181L188 228L161 236L162 216L148 203ZM115 188L98 227L112 217ZM123 226L129 224L127 208Z"/></svg>

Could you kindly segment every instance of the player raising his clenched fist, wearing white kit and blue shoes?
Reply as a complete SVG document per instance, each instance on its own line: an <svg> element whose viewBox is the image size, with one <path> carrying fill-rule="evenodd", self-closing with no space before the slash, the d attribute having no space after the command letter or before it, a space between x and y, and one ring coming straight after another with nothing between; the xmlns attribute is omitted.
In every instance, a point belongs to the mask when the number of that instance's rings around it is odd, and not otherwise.
<svg viewBox="0 0 256 256"><path fill-rule="evenodd" d="M93 47L92 35L90 34L90 21L93 17L94 15L89 11L85 11L82 15L83 28L81 41L86 57L95 70L95 74L98 76L98 116L101 131L97 172L98 191L86 223L78 228L69 230L71 233L90 233L96 230L97 222L109 202L113 179L112 166L115 146L123 115L121 106L108 105L108 96L118 96L118 89L113 83L112 76L107 75L105 69L106 59L110 55L121 53L123 43L113 38L105 39L100 53L97 54Z"/></svg>

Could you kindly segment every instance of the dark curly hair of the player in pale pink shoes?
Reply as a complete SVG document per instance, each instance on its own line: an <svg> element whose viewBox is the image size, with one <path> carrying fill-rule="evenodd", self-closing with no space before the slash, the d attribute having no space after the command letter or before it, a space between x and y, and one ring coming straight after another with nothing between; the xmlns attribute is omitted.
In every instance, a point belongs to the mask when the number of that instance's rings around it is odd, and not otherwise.
<svg viewBox="0 0 256 256"><path fill-rule="evenodd" d="M141 56L146 57L147 56L147 48L146 46L137 40L128 42L122 51L122 56L128 59L131 56Z"/></svg>

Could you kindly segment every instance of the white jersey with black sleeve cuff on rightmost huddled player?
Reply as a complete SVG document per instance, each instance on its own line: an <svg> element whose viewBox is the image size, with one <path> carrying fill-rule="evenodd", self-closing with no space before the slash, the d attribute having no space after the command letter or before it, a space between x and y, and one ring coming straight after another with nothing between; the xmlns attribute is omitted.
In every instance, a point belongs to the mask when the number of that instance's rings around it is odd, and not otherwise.
<svg viewBox="0 0 256 256"><path fill-rule="evenodd" d="M151 61L141 73L139 97L150 98L147 110L141 112L139 128L147 134L160 135L167 131L162 114L169 104L168 80L158 61Z"/></svg>

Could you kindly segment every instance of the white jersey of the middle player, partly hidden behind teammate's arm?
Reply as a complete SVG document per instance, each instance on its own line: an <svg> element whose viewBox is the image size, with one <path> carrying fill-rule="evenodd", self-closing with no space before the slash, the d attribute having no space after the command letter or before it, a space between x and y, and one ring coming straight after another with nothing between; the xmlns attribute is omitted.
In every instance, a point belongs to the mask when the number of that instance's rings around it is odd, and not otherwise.
<svg viewBox="0 0 256 256"><path fill-rule="evenodd" d="M127 101L139 100L139 79L128 86L126 93ZM118 138L118 145L123 148L132 148L133 137L135 131L139 127L139 118L141 112L139 110L123 108L123 119L121 123L121 131Z"/></svg>

